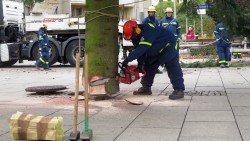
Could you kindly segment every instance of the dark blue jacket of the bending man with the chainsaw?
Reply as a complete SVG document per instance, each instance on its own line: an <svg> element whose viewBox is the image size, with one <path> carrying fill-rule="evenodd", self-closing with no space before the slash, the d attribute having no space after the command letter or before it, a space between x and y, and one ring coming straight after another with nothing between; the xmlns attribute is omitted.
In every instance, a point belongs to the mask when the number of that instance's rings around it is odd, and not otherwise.
<svg viewBox="0 0 250 141"><path fill-rule="evenodd" d="M147 61L164 64L178 55L178 44L171 32L150 23L138 26L141 34L132 41L136 48L129 54L129 62L144 57Z"/></svg>

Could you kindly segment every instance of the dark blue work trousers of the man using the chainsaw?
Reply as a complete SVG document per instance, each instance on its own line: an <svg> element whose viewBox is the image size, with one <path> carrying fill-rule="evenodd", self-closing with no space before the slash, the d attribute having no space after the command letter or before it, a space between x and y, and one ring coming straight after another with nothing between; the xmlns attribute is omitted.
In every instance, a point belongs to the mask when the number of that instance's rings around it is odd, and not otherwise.
<svg viewBox="0 0 250 141"><path fill-rule="evenodd" d="M159 67L158 61L154 63L145 63L144 69L146 76L141 79L142 86L151 87L154 82L154 77ZM179 55L176 55L172 60L165 63L165 67L168 72L168 77L174 90L185 90L183 73L179 64Z"/></svg>

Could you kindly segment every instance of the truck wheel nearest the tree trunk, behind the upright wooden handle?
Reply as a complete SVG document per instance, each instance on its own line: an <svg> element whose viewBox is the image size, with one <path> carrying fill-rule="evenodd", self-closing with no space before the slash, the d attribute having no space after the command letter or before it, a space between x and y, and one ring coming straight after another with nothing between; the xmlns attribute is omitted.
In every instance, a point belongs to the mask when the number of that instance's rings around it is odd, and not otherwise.
<svg viewBox="0 0 250 141"><path fill-rule="evenodd" d="M69 61L71 66L76 65L76 53L79 51L78 49L79 41L74 40L72 41L66 49L66 58ZM83 65L84 62L84 40L81 40L81 58L80 58L80 65Z"/></svg>

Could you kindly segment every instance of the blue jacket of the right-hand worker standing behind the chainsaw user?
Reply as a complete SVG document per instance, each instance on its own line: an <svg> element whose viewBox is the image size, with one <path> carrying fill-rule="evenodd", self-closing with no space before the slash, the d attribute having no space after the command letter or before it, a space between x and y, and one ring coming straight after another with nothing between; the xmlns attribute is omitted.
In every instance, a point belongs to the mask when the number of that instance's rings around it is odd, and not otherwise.
<svg viewBox="0 0 250 141"><path fill-rule="evenodd" d="M174 34L176 40L182 39L181 37L181 26L177 19L173 17L165 17L160 21L160 26L166 28L168 31Z"/></svg>

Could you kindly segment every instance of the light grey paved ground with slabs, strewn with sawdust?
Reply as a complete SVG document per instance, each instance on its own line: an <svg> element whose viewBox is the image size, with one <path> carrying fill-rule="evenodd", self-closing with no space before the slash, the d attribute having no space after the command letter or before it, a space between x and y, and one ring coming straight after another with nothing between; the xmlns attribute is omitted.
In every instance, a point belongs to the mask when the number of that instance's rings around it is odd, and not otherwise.
<svg viewBox="0 0 250 141"><path fill-rule="evenodd" d="M81 71L82 72L82 71ZM183 69L185 98L169 100L167 72L157 74L151 96L134 96L139 81L121 84L114 98L90 99L92 141L250 141L250 67ZM82 75L82 74L81 74ZM72 132L75 69L33 66L0 69L0 141L11 141L8 118L16 111L62 116L65 141ZM81 79L81 77L80 77ZM26 87L65 85L68 89L37 95ZM84 90L81 86L80 90ZM131 105L124 99L142 101ZM84 102L79 102L78 130L84 128Z"/></svg>

